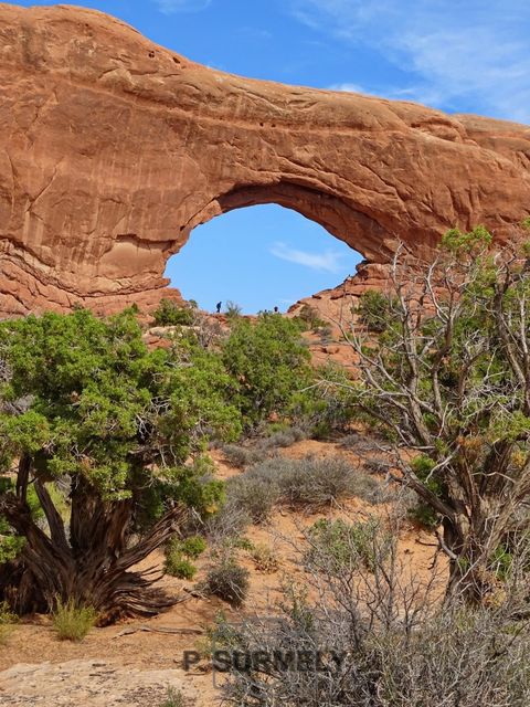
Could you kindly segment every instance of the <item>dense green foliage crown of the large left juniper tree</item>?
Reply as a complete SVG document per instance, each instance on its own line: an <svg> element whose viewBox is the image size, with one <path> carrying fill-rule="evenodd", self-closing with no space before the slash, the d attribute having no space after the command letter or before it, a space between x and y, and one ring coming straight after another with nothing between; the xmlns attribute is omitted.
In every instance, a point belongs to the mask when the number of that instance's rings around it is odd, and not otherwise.
<svg viewBox="0 0 530 707"><path fill-rule="evenodd" d="M0 350L12 369L4 399L33 400L20 415L0 415L4 458L30 454L43 476L81 475L109 500L136 494L146 474L151 492L190 499L198 474L184 462L200 451L201 431L239 434L219 358L188 344L148 351L130 312L3 323Z"/></svg>

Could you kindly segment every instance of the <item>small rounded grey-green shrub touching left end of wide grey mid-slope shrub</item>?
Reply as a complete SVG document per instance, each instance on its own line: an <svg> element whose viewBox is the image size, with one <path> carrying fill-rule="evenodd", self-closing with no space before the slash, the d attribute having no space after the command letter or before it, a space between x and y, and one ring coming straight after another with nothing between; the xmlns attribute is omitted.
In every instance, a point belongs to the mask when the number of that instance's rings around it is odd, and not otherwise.
<svg viewBox="0 0 530 707"><path fill-rule="evenodd" d="M264 523L278 502L280 492L274 479L264 481L259 473L247 472L229 479L226 496L231 508L244 509L252 521Z"/></svg>

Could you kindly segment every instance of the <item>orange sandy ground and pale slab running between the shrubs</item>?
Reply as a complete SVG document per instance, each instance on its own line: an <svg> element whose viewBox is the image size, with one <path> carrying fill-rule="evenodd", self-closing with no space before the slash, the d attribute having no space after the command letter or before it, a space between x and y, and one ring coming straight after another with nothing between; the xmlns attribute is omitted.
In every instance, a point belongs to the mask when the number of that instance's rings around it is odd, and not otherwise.
<svg viewBox="0 0 530 707"><path fill-rule="evenodd" d="M298 442L282 453L293 457L340 454L354 465L360 465L363 456L337 444L315 441ZM222 452L215 451L213 456L220 477L241 473L225 462ZM304 545L304 528L322 516L356 519L374 509L384 513L384 505L372 508L351 499L318 514L280 510L266 526L252 526L246 536L254 544L274 547L279 566L274 573L264 573L256 570L248 553L240 552L241 561L251 570L248 599L241 612L219 599L192 597L186 591L204 576L209 563L206 555L198 562L199 572L193 582L169 576L161 580L167 590L183 601L150 621L94 629L76 644L60 642L47 618L25 619L8 644L0 646L0 705L158 707L170 685L181 689L190 705L219 704L220 693L208 664L184 672L183 652L197 648L220 612L233 621L255 613L269 614L282 599L286 578L306 581L297 550ZM432 537L411 526L402 534L399 548L411 577L428 574L434 553ZM146 562L162 561L162 552L157 551Z"/></svg>

